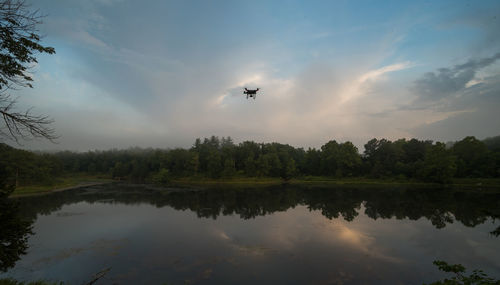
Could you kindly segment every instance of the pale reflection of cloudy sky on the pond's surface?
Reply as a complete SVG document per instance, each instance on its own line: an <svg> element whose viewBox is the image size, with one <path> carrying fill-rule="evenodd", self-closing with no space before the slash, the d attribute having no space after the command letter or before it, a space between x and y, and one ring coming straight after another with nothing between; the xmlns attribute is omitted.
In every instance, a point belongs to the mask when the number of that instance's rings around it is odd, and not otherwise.
<svg viewBox="0 0 500 285"><path fill-rule="evenodd" d="M80 202L38 218L29 253L8 276L79 284L111 267L106 282L120 284L421 284L442 277L435 259L500 276L491 224L438 230L425 219L373 220L363 211L352 222L304 206L213 220L170 207Z"/></svg>

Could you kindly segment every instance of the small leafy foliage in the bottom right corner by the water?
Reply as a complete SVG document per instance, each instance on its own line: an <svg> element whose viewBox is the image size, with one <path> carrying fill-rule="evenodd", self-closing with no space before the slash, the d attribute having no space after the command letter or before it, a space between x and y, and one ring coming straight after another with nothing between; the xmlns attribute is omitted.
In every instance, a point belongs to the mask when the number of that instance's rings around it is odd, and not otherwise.
<svg viewBox="0 0 500 285"><path fill-rule="evenodd" d="M436 265L439 270L444 272L454 273L455 276L451 279L444 279L443 281L436 281L430 283L430 285L474 285L474 284L500 284L500 280L495 280L488 277L482 270L473 270L472 273L467 276L465 275L465 267L461 264L448 264L445 261L435 260L434 265Z"/></svg>

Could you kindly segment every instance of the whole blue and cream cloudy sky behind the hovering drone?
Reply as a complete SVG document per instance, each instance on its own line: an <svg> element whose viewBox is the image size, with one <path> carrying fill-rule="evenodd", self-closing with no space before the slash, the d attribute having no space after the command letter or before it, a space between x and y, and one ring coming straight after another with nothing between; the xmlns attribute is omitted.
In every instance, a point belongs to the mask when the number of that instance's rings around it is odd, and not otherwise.
<svg viewBox="0 0 500 285"><path fill-rule="evenodd" d="M20 148L500 135L499 1L28 3L56 54L14 95L60 138Z"/></svg>

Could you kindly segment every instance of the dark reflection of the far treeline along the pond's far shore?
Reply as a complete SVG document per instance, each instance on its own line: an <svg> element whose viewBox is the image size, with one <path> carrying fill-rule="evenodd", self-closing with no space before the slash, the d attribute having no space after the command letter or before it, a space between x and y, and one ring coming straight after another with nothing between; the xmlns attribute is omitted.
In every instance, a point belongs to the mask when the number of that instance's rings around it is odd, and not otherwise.
<svg viewBox="0 0 500 285"><path fill-rule="evenodd" d="M220 215L238 215L252 219L283 212L298 205L321 211L329 218L342 216L354 220L364 207L372 219L425 218L436 228L454 221L474 227L489 218L499 218L500 194L455 191L433 188L304 188L280 186L256 189L219 188L209 190L165 191L140 185L102 185L54 193L49 196L23 198L23 213L29 218L49 214L67 203L149 203L177 210L195 212L198 217L217 219Z"/></svg>

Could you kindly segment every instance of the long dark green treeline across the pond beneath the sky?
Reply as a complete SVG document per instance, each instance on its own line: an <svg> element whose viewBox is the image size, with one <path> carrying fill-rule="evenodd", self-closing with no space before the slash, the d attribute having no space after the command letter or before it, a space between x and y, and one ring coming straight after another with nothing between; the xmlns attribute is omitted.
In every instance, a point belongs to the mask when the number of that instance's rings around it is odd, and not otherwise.
<svg viewBox="0 0 500 285"><path fill-rule="evenodd" d="M372 139L359 153L351 142L321 148L230 137L197 139L189 149L140 149L85 153L33 153L0 145L0 179L31 183L63 173L107 174L114 179L168 182L172 177L211 178L300 176L398 178L447 183L455 177L499 177L500 137L455 143L417 139Z"/></svg>

